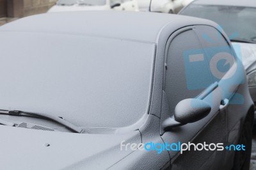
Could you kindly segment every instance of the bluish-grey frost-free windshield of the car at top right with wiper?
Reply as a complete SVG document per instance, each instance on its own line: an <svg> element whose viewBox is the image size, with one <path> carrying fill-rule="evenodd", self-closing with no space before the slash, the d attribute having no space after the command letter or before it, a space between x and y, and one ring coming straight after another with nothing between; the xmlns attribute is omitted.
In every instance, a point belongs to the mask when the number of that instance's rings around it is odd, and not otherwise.
<svg viewBox="0 0 256 170"><path fill-rule="evenodd" d="M180 14L213 20L230 39L256 43L256 8L190 4Z"/></svg>

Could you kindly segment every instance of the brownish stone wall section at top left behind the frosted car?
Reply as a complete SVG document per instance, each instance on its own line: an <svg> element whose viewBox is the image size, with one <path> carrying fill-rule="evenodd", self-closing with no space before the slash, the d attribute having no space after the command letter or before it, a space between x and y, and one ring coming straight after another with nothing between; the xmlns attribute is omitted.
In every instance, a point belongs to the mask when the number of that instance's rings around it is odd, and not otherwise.
<svg viewBox="0 0 256 170"><path fill-rule="evenodd" d="M56 1L57 0L24 0L24 16L45 13Z"/></svg>

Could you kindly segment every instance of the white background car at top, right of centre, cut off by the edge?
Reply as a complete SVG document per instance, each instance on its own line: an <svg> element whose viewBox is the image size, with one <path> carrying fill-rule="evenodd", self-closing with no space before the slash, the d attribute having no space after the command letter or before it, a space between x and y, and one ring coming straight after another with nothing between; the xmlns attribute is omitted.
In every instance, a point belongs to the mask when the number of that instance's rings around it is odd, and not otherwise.
<svg viewBox="0 0 256 170"><path fill-rule="evenodd" d="M140 11L161 12L161 13L178 13L184 6L193 0L138 0Z"/></svg>

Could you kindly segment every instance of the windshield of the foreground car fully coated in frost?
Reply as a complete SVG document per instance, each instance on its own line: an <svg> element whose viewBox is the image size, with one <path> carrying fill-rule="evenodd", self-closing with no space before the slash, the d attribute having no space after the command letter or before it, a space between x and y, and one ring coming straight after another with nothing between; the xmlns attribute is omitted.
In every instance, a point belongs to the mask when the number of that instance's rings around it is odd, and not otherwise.
<svg viewBox="0 0 256 170"><path fill-rule="evenodd" d="M62 34L0 37L1 69L8 70L0 72L1 109L90 128L127 127L147 114L154 44ZM13 42L20 42L15 50Z"/></svg>

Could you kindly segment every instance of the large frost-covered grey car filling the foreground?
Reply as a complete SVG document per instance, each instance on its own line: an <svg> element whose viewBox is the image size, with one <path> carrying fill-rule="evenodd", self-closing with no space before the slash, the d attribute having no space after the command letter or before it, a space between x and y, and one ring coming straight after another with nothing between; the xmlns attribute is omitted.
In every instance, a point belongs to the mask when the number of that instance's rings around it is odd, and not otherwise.
<svg viewBox="0 0 256 170"><path fill-rule="evenodd" d="M116 11L1 26L1 169L248 168L253 102L219 31L210 20Z"/></svg>

